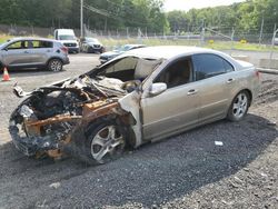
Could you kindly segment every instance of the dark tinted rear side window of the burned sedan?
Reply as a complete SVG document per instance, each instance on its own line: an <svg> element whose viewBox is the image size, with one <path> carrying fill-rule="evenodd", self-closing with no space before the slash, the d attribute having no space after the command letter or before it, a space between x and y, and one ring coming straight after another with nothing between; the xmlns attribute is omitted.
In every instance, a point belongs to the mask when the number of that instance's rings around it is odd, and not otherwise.
<svg viewBox="0 0 278 209"><path fill-rule="evenodd" d="M215 54L195 54L192 56L192 59L195 64L196 80L202 80L234 71L232 66L228 61Z"/></svg>

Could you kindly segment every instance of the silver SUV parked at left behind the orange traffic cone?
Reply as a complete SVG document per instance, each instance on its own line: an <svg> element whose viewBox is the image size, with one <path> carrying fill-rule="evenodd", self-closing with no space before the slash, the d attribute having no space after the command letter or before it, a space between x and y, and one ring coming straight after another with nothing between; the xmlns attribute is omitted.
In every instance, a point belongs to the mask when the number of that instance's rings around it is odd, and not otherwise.
<svg viewBox="0 0 278 209"><path fill-rule="evenodd" d="M47 68L61 71L69 63L68 48L41 38L14 38L0 46L0 68Z"/></svg>

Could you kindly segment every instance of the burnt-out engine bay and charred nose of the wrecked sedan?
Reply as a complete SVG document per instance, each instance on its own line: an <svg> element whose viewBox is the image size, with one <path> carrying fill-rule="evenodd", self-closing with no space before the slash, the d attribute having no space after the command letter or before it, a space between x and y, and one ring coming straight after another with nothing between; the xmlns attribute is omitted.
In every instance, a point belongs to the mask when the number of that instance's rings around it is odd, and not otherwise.
<svg viewBox="0 0 278 209"><path fill-rule="evenodd" d="M10 118L9 130L16 147L27 156L59 149L81 121L86 103L115 102L122 94L87 81L90 80L71 80L31 92Z"/></svg>

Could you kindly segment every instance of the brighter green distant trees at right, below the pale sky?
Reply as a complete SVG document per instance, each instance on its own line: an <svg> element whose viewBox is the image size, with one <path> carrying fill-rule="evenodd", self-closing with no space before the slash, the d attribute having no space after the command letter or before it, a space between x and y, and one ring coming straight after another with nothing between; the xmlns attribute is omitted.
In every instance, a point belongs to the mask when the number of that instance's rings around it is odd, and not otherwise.
<svg viewBox="0 0 278 209"><path fill-rule="evenodd" d="M167 14L171 31L200 31L202 27L228 33L272 33L278 23L277 0L247 0L231 6L170 11ZM278 24L277 24L278 27Z"/></svg>

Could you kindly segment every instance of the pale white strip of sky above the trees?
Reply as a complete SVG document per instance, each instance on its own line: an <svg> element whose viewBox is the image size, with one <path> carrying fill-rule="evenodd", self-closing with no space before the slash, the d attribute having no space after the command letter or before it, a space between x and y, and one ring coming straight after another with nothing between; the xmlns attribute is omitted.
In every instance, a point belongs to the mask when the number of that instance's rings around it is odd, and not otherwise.
<svg viewBox="0 0 278 209"><path fill-rule="evenodd" d="M229 6L235 2L244 0L165 0L165 10L185 10L188 11L192 8L200 9L207 7Z"/></svg>

